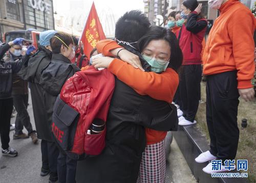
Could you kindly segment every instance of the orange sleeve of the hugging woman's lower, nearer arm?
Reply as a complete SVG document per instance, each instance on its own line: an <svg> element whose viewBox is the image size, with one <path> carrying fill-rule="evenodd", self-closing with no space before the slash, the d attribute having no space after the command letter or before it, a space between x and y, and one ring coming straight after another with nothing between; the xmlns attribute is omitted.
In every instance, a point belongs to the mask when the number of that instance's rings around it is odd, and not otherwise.
<svg viewBox="0 0 256 183"><path fill-rule="evenodd" d="M167 68L161 74L143 72L119 59L114 59L108 70L137 93L167 102L173 101L179 84L179 76L171 68Z"/></svg>

